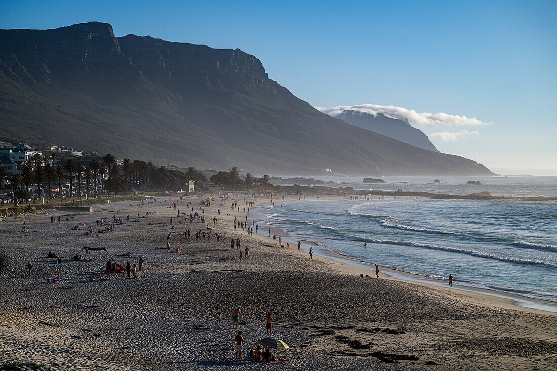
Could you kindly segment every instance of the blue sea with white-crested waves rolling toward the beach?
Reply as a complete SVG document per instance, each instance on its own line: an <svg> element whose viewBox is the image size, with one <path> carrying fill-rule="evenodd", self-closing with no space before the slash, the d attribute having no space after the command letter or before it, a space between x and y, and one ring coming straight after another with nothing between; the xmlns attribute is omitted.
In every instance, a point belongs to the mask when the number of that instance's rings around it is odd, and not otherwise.
<svg viewBox="0 0 557 371"><path fill-rule="evenodd" d="M557 177L449 177L439 183L432 177L383 177L380 184L364 184L363 177L314 178L368 191L557 197ZM265 223L353 260L434 280L452 274L455 285L557 302L556 201L360 196L279 199L275 205L263 211Z"/></svg>

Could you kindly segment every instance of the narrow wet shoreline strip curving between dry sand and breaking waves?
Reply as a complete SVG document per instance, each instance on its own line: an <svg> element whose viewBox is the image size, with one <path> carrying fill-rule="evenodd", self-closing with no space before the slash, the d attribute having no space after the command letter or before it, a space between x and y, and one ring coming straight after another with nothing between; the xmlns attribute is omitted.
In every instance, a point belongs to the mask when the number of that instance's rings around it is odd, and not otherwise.
<svg viewBox="0 0 557 371"><path fill-rule="evenodd" d="M339 200L345 199L344 197L338 196L329 196L329 199L324 199L320 201L331 201L331 200ZM316 199L309 199L307 201L317 201ZM292 203L292 202L304 202L304 200L298 199L285 199L282 203ZM261 202L254 206L264 205L265 203ZM276 207L275 207L276 208ZM255 218L256 221L262 223L265 228L271 228L271 234L273 234L273 230L280 231L280 233L284 233L286 237L282 238L284 243L290 242L297 246L297 240L290 235L289 232L285 232L282 228L274 226L273 224L269 224L266 221L265 213L262 212L260 209L251 210L250 214L257 216ZM250 217L254 219L254 217ZM260 227L261 230L261 227ZM263 241L274 241L272 238L265 237L264 235L254 235L260 236ZM364 262L357 260L349 255L344 255L342 253L336 252L331 250L330 248L321 245L319 241L309 241L309 240L300 240L302 248L305 250L309 250L309 247L314 247L314 256L321 258L323 261L330 263L332 266L335 266L338 270L345 272L346 274L351 275L360 275L364 274L369 275L370 277L374 278L375 276L375 268L372 263ZM305 252L306 252L305 251ZM444 289L444 290L457 290L458 292L462 292L463 294L467 294L471 297L473 301L485 303L487 299L488 301L492 301L492 304L495 306L503 307L505 309L516 309L516 310L524 310L531 313L543 313L543 314L550 314L557 316L557 302L543 300L543 299L536 299L534 297L522 296L519 294L512 294L510 292L505 291L496 291L490 289L482 289L481 287L473 287L473 286L462 286L453 284L452 289L447 287L446 281L432 279L431 277L422 276L419 274L413 274L410 272L405 272L402 270L393 269L390 267L380 266L380 275L386 275L387 279L395 280L395 281L402 281L402 282L410 282L413 284L419 284L424 286L433 287L434 289ZM385 277L382 277L385 278ZM487 296L487 298L482 297Z"/></svg>

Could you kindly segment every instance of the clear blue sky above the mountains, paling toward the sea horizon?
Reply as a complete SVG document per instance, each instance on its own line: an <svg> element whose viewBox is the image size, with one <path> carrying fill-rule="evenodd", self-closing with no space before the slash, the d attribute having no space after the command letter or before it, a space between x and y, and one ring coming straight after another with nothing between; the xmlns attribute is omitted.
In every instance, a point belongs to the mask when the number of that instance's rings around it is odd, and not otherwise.
<svg viewBox="0 0 557 371"><path fill-rule="evenodd" d="M260 58L271 79L311 105L394 105L485 126L442 152L502 174L557 175L557 1L170 2L2 1L0 28L100 21Z"/></svg>

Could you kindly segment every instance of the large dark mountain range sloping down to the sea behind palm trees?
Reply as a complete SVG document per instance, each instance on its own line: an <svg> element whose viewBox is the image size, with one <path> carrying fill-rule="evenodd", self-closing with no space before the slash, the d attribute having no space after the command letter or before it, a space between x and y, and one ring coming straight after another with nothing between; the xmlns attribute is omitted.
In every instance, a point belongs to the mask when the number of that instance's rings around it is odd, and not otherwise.
<svg viewBox="0 0 557 371"><path fill-rule="evenodd" d="M492 175L350 125L239 49L115 37L107 23L0 30L0 135L252 173Z"/></svg>

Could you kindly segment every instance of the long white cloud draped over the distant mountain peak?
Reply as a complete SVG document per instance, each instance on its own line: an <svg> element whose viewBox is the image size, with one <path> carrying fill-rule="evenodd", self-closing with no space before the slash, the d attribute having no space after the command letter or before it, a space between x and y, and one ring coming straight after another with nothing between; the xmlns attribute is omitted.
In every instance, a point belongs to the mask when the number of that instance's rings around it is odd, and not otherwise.
<svg viewBox="0 0 557 371"><path fill-rule="evenodd" d="M336 106L331 108L316 107L323 113L336 117L346 110L355 110L372 115L378 113L384 114L392 119L407 120L411 124L416 125L429 125L429 126L482 126L491 125L492 123L485 123L476 118L468 118L466 116L449 115L446 113L417 113L414 110L405 109L397 106L382 106L378 104L360 104L357 106Z"/></svg>

